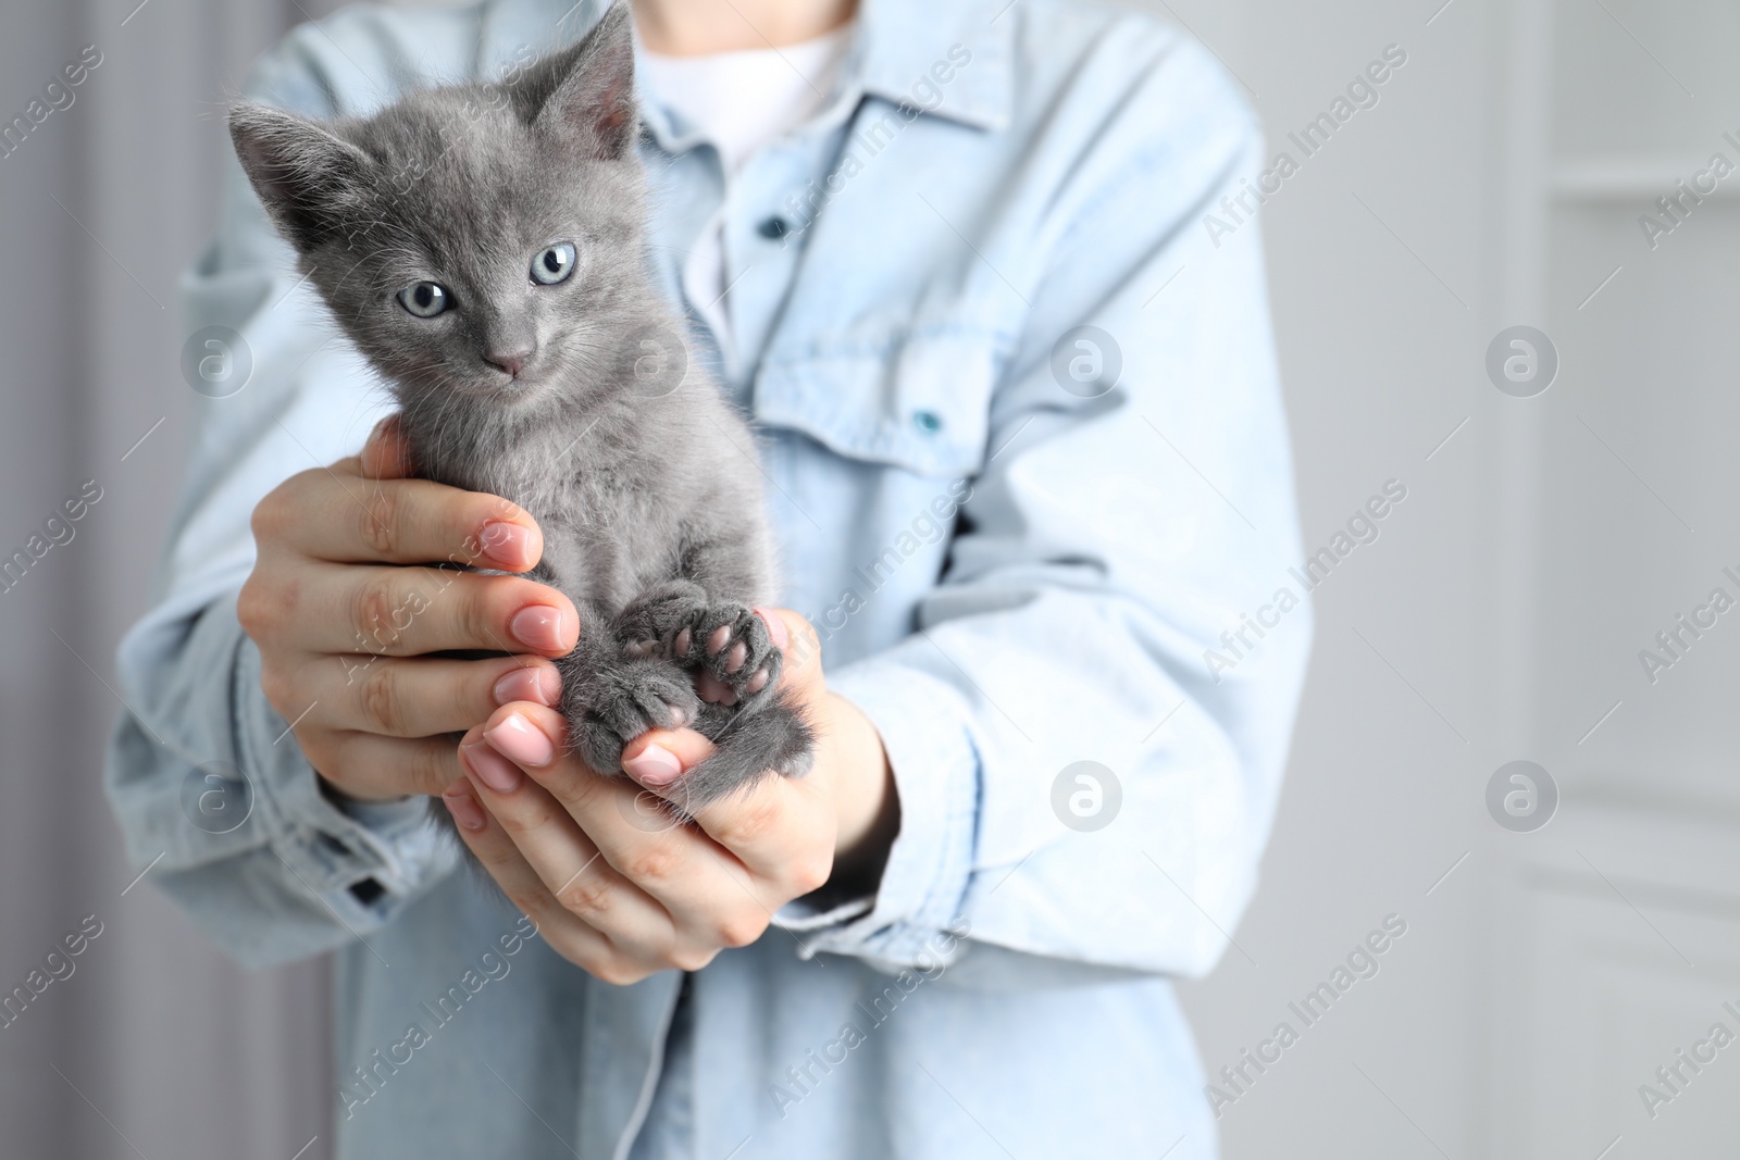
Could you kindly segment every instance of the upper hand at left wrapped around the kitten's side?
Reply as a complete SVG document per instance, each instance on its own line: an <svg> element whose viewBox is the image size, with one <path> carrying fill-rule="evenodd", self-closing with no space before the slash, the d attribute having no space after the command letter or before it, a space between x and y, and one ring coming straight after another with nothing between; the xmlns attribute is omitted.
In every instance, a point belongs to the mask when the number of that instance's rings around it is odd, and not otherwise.
<svg viewBox="0 0 1740 1160"><path fill-rule="evenodd" d="M411 567L524 572L543 536L505 499L409 471L386 421L360 457L285 480L254 508L259 558L237 600L266 701L320 777L365 802L440 793L461 774L451 734L513 701L557 704L562 680L545 657L579 637L553 588ZM534 656L421 656L447 649Z"/></svg>

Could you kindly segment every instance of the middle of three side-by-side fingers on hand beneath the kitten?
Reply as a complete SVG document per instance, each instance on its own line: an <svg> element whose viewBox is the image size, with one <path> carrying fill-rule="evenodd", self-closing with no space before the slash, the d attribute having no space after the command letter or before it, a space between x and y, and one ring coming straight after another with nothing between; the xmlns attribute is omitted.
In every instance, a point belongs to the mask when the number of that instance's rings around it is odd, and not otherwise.
<svg viewBox="0 0 1740 1160"><path fill-rule="evenodd" d="M675 943L670 913L600 856L560 802L524 777L477 732L466 736L459 755L478 802L508 835L543 892L635 958L651 962L668 951ZM519 882L522 890L529 885ZM508 897L520 901L512 890Z"/></svg>

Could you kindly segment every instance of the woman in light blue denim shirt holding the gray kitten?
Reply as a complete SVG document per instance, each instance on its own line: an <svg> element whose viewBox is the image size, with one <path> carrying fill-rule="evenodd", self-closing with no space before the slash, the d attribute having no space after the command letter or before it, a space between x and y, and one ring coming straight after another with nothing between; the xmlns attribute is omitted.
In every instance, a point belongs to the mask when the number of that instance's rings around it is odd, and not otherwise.
<svg viewBox="0 0 1740 1160"><path fill-rule="evenodd" d="M362 113L599 14L350 9L249 96ZM1244 616L1296 558L1251 115L1060 0L635 17L654 259L760 431L816 770L673 830L637 793L699 736L637 739L633 783L562 755L560 593L400 616L414 565L520 572L538 529L407 478L231 170L188 297L252 370L122 645L134 857L244 962L338 950L341 1157L1213 1157L1168 979L1251 894L1308 638Z"/></svg>

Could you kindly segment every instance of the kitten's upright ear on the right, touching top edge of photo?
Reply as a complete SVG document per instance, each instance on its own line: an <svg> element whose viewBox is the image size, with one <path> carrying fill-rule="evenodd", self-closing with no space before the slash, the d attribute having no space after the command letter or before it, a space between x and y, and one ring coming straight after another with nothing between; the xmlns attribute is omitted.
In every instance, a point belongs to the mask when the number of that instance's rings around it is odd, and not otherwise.
<svg viewBox="0 0 1740 1160"><path fill-rule="evenodd" d="M635 35L628 0L616 0L586 38L529 77L541 96L534 127L567 141L583 155L619 160L640 127L635 106ZM546 87L539 89L538 80Z"/></svg>

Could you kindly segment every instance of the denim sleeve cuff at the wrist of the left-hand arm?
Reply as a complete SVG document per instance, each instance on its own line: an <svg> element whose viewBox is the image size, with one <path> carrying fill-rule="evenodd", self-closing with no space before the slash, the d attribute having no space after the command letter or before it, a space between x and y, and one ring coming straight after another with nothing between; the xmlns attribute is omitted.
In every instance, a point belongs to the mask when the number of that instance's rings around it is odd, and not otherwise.
<svg viewBox="0 0 1740 1160"><path fill-rule="evenodd" d="M339 803L259 687L259 650L237 647L233 704L244 769L254 776L266 843L289 885L325 903L348 923L378 927L458 863L430 823L428 802Z"/></svg>

